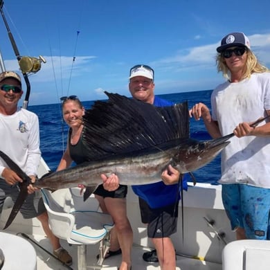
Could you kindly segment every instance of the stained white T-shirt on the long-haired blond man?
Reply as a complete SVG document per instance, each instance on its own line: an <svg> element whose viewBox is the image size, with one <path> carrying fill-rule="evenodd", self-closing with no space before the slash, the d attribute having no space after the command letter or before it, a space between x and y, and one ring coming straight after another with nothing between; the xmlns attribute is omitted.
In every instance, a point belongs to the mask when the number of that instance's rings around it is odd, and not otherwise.
<svg viewBox="0 0 270 270"><path fill-rule="evenodd" d="M231 134L242 122L267 116L270 109L270 73L253 73L241 82L225 82L212 93L213 120L222 136ZM260 123L264 125L265 122ZM247 183L270 188L270 136L233 136L222 150L219 183Z"/></svg>

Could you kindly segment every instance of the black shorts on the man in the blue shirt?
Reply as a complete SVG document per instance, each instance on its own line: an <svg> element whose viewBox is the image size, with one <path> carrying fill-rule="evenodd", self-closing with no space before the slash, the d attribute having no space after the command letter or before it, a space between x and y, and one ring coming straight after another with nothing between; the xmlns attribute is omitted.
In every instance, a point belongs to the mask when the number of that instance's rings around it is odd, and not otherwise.
<svg viewBox="0 0 270 270"><path fill-rule="evenodd" d="M142 222L147 225L150 238L170 237L177 231L179 201L160 208L150 208L147 202L139 198Z"/></svg>

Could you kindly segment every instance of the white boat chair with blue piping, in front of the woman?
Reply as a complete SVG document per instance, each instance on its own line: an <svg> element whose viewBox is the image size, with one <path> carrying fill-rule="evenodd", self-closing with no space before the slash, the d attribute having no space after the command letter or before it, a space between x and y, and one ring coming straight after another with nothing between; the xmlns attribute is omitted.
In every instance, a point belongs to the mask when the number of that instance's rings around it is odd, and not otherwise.
<svg viewBox="0 0 270 270"><path fill-rule="evenodd" d="M109 250L109 232L114 222L110 215L98 210L98 201L94 197L83 201L80 188L55 192L42 189L42 198L53 234L69 244L78 245L78 269L87 269L86 245L98 242L100 259L97 264L102 265Z"/></svg>

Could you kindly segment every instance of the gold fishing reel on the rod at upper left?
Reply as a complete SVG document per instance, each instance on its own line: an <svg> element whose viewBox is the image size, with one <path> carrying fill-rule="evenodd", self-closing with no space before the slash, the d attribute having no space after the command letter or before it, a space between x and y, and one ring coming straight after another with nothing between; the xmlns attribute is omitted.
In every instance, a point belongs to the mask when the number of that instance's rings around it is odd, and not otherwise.
<svg viewBox="0 0 270 270"><path fill-rule="evenodd" d="M42 55L39 57L21 56L18 60L19 67L22 73L36 73L41 69L42 62L46 63L46 60Z"/></svg>

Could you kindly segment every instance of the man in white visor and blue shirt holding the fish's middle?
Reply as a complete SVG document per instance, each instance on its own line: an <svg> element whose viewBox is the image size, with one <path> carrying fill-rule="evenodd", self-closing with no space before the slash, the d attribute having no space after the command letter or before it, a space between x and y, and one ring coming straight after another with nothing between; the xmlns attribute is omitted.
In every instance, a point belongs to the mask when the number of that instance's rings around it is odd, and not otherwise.
<svg viewBox="0 0 270 270"><path fill-rule="evenodd" d="M154 70L145 64L133 66L129 71L129 91L136 100L150 103L156 107L171 106L172 102L154 96ZM102 175L104 186L118 183L114 174L107 178ZM163 180L163 181L162 181ZM146 262L159 262L161 269L175 270L175 250L170 235L177 231L179 205L179 172L169 165L163 171L162 180L158 183L132 186L139 197L141 219L147 224L147 235L155 249L143 253ZM184 186L187 188L186 181ZM131 269L131 268L130 268Z"/></svg>

